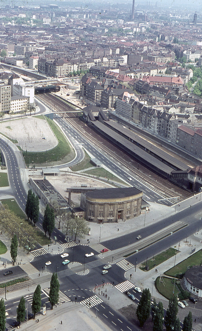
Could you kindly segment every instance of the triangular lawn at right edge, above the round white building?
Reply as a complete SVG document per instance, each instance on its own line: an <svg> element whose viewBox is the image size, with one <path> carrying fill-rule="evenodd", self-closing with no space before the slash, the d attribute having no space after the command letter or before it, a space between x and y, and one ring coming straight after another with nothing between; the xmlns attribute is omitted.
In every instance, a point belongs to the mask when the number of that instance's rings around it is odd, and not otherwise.
<svg viewBox="0 0 202 331"><path fill-rule="evenodd" d="M193 265L201 265L201 264L202 264L202 250L199 250L164 273L165 275L168 276L175 277L176 275L177 277L182 278L183 274L185 273L188 267Z"/></svg>

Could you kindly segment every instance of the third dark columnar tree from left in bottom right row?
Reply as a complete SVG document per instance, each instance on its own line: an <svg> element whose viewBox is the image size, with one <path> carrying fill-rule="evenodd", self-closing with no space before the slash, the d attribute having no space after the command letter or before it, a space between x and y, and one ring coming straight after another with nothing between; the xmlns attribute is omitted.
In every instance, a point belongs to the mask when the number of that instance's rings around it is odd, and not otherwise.
<svg viewBox="0 0 202 331"><path fill-rule="evenodd" d="M178 327L177 314L178 314L178 301L176 295L174 295L169 300L168 309L166 310L166 316L165 316L166 331L171 331L174 330L173 328Z"/></svg>

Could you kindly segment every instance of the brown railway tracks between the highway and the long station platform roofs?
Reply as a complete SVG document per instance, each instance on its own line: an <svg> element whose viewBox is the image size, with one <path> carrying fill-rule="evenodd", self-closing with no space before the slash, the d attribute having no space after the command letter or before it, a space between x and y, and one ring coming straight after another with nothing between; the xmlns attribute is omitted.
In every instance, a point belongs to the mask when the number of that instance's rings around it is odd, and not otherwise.
<svg viewBox="0 0 202 331"><path fill-rule="evenodd" d="M42 102L53 107L55 111L66 111L72 109L52 94L40 94L38 97ZM130 172L131 175L133 175L140 182L148 185L157 193L160 193L164 198L175 198L176 196L179 196L179 200L181 201L191 195L190 192L183 190L177 185L169 182L167 179L158 176L158 174L146 168L139 161L135 160L126 152L121 150L121 148L99 135L97 131L95 131L90 125L87 125L81 121L75 114L64 114L62 117L72 127L74 127L78 133L94 145L94 147L104 153L113 162L117 163L123 170ZM175 202L175 199L173 199L173 202Z"/></svg>

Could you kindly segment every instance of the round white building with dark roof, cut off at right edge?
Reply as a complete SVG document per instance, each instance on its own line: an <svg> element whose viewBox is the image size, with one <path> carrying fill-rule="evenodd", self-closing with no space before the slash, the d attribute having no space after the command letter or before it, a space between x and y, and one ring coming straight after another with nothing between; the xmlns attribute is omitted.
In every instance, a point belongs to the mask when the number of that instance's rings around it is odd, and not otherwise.
<svg viewBox="0 0 202 331"><path fill-rule="evenodd" d="M202 297L202 266L186 270L184 274L184 287L197 297Z"/></svg>

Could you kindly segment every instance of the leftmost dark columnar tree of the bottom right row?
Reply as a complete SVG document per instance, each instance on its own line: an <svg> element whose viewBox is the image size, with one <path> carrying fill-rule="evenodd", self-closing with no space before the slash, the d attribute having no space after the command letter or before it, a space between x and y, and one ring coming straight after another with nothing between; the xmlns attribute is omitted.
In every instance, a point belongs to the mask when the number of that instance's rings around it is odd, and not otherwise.
<svg viewBox="0 0 202 331"><path fill-rule="evenodd" d="M143 289L140 302L138 304L136 315L142 327L146 322L147 318L150 316L151 309L151 293L149 289Z"/></svg>

